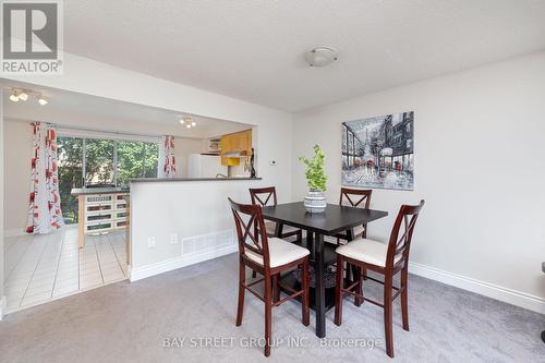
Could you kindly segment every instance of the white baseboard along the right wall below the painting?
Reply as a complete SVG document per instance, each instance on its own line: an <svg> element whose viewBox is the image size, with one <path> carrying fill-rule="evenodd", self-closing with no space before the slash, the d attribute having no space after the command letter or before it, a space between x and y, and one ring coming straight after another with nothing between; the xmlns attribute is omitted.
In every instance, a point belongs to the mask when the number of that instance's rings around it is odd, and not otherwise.
<svg viewBox="0 0 545 363"><path fill-rule="evenodd" d="M409 273L545 314L545 299L524 292L415 263L409 263Z"/></svg>

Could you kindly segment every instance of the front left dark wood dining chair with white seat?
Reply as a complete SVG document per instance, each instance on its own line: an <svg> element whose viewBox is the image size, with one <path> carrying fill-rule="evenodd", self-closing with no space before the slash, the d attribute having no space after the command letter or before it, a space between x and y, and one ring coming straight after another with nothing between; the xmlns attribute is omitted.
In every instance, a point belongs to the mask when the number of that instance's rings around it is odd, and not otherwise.
<svg viewBox="0 0 545 363"><path fill-rule="evenodd" d="M237 237L239 240L239 302L237 307L237 326L242 324L244 311L245 290L253 293L265 303L265 356L270 355L271 341L271 318L272 307L276 307L288 300L301 297L302 322L303 325L310 324L308 307L308 250L300 247L296 244L283 241L279 238L269 238L265 231L262 207L259 205L238 204L229 198L231 210L233 213L234 225L237 227ZM257 232L256 232L257 231ZM246 266L258 271L263 278L246 282ZM272 297L272 277L279 281L280 273L290 269L300 268L301 290L294 290L291 287L282 286L290 295L282 300L274 301ZM264 282L263 297L252 287Z"/></svg>

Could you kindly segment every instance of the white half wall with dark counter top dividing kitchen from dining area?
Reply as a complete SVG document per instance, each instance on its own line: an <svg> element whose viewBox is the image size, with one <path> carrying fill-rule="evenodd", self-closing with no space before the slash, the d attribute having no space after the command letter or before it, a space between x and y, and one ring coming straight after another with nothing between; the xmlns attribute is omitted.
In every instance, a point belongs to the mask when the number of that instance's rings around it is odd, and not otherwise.
<svg viewBox="0 0 545 363"><path fill-rule="evenodd" d="M227 197L250 203L261 178L131 181L130 279L135 281L238 251Z"/></svg>

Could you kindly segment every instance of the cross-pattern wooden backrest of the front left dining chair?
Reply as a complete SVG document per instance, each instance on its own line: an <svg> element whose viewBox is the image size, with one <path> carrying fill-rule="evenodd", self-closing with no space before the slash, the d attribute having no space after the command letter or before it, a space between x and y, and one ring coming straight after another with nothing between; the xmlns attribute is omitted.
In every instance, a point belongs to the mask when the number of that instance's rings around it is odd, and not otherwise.
<svg viewBox="0 0 545 363"><path fill-rule="evenodd" d="M239 254L246 255L247 251L259 255L263 265L269 266L269 247L267 232L262 215L262 206L255 204L239 204L228 198L237 227Z"/></svg>

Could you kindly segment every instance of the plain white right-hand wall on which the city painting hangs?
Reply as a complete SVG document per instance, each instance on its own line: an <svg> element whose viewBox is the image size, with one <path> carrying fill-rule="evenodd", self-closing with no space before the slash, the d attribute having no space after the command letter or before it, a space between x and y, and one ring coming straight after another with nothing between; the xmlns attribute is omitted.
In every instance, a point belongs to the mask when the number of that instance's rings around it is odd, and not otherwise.
<svg viewBox="0 0 545 363"><path fill-rule="evenodd" d="M386 240L399 206L425 198L412 262L545 313L545 52L298 113L293 159L311 155L314 143L324 148L336 203L341 122L400 111L415 114L415 190L374 191L372 207L390 215L370 226L371 237ZM302 198L295 162L292 185ZM440 275L425 267L413 271Z"/></svg>

